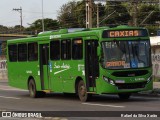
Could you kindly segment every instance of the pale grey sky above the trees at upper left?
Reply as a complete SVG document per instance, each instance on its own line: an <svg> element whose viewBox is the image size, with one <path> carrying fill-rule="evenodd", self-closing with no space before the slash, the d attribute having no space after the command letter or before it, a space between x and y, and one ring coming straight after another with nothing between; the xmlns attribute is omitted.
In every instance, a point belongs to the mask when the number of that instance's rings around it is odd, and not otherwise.
<svg viewBox="0 0 160 120"><path fill-rule="evenodd" d="M37 19L42 19L42 1L44 18L57 19L58 10L71 0L0 0L0 25L14 27L20 25L20 12L13 8L22 7L22 25L28 27Z"/></svg>

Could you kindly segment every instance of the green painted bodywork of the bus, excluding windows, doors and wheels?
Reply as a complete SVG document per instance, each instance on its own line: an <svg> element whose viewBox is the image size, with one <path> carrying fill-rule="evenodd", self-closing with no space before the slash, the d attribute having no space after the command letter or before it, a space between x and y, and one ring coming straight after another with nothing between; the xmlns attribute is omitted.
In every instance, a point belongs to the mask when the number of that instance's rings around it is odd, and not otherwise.
<svg viewBox="0 0 160 120"><path fill-rule="evenodd" d="M99 56L99 61L101 57L101 42L103 41L128 41L134 40L148 40L149 36L144 37L120 37L120 38L103 38L102 32L104 30L132 30L132 29L142 29L142 28L133 28L133 27L117 27L117 28L99 28L99 29L91 29L85 31L78 31L72 33L63 33L60 32L49 32L47 34L40 34L38 37L30 37L23 39L15 39L8 40L7 44L22 44L22 43L32 43L37 42L38 44L38 60L37 61L25 61L25 62L10 62L9 55L7 59L8 66L8 80L9 85L21 88L28 89L28 81L33 78L36 83L37 91L42 90L50 90L52 92L64 92L64 93L75 93L76 92L76 80L83 80L85 83L87 82L85 76L85 41L96 40L98 41L97 48L97 56ZM83 40L83 58L80 60L51 60L50 59L50 50L49 50L49 61L48 65L43 65L43 79L44 86L42 88L42 82L40 78L40 45L48 44L50 46L50 41L54 40L65 40L65 39L74 39L74 38L82 38ZM8 50L9 51L9 50ZM8 53L8 52L7 52ZM99 62L99 75L95 80L95 87L89 87L88 92L94 92L96 94L105 94L105 93L133 93L145 90L152 90L153 81L150 80L145 84L142 88L127 88L127 89L118 89L116 85L110 84L106 82L103 76L106 76L113 81L123 80L123 82L129 87L133 84L137 84L140 82L146 82L148 79L151 79L152 76L152 68L151 65L149 67L144 68L133 68L133 69L104 69ZM133 76L122 76L116 77L112 73L123 72L123 71L147 71L144 75L134 75ZM95 71L97 72L97 71ZM123 84L123 83L121 83Z"/></svg>

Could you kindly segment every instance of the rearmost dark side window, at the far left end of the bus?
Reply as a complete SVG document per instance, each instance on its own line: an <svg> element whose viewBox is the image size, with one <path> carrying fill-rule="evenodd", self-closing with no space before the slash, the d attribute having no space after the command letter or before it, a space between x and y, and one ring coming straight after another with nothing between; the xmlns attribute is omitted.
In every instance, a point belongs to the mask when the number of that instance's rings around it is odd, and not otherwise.
<svg viewBox="0 0 160 120"><path fill-rule="evenodd" d="M17 45L9 45L8 46L8 54L9 54L9 61L16 62L17 61Z"/></svg>

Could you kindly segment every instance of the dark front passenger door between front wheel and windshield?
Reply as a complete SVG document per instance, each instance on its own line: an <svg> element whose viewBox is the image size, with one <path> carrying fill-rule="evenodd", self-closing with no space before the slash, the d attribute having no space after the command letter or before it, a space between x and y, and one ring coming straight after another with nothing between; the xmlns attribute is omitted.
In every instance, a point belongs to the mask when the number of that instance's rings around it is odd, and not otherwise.
<svg viewBox="0 0 160 120"><path fill-rule="evenodd" d="M97 55L97 40L85 41L85 76L87 92L94 92L96 87L96 78L99 77L99 63ZM89 88L93 89L90 90Z"/></svg>

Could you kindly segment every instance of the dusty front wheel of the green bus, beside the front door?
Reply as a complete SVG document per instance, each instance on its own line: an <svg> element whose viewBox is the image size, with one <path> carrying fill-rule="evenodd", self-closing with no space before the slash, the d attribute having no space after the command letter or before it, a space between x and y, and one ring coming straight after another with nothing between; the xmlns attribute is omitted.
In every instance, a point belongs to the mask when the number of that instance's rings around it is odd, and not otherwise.
<svg viewBox="0 0 160 120"><path fill-rule="evenodd" d="M86 88L85 83L83 82L83 80L78 82L77 87L78 87L77 88L77 90L78 90L77 92L78 92L79 99L82 102L89 101L90 98L91 98L91 94L87 93L87 88Z"/></svg>

